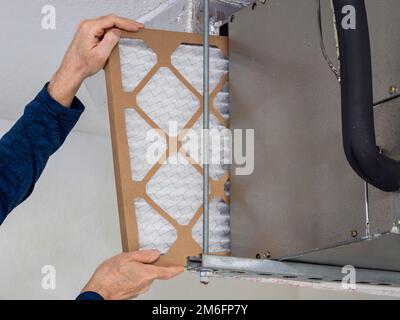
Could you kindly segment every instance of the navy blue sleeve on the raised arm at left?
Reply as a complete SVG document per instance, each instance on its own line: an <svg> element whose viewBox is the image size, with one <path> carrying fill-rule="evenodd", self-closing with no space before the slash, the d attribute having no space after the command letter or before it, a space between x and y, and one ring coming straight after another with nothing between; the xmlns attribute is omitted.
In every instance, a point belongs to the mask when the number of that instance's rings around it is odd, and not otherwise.
<svg viewBox="0 0 400 320"><path fill-rule="evenodd" d="M78 98L70 108L62 106L49 95L46 84L0 139L0 225L32 193L50 156L64 143L84 109Z"/></svg>

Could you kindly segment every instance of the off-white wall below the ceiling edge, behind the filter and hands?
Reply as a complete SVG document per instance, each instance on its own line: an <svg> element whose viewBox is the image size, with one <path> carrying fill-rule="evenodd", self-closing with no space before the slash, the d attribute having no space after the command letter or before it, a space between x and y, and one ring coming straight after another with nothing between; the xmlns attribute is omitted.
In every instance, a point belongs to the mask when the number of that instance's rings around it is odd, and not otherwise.
<svg viewBox="0 0 400 320"><path fill-rule="evenodd" d="M12 125L0 120L0 135ZM0 299L70 299L97 265L121 252L111 142L73 133L50 160L33 195L0 227ZM42 289L44 265L57 271L55 291ZM295 299L295 288L196 274L156 283L144 298Z"/></svg>

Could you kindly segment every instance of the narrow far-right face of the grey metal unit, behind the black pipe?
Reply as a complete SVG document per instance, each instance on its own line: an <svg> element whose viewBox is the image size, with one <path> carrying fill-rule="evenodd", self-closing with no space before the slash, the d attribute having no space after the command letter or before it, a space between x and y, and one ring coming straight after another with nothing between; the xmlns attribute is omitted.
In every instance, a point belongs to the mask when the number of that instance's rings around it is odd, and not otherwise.
<svg viewBox="0 0 400 320"><path fill-rule="evenodd" d="M374 99L390 97L389 88L400 88L400 4L396 0L367 0L371 35ZM400 99L375 108L377 145L400 160ZM400 195L369 187L371 234L388 232L400 218Z"/></svg>

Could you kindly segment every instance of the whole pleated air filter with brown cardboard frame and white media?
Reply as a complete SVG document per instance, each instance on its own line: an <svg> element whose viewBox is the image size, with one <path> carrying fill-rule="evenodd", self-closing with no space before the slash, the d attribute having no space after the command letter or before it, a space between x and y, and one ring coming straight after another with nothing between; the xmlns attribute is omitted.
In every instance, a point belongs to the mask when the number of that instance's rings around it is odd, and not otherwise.
<svg viewBox="0 0 400 320"><path fill-rule="evenodd" d="M222 137L210 150L220 159L210 165L210 252L229 254L228 40L210 45L210 128ZM157 248L158 264L185 265L202 252L202 143L193 143L203 122L202 37L123 33L106 78L124 250Z"/></svg>

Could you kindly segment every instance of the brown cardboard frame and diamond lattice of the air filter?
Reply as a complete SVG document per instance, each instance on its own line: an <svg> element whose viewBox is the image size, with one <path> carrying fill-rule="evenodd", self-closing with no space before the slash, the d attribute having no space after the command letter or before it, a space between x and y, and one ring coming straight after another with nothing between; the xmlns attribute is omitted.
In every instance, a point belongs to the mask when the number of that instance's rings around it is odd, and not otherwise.
<svg viewBox="0 0 400 320"><path fill-rule="evenodd" d="M192 228L200 219L200 217L202 217L203 206L197 210L188 225L181 225L147 195L146 185L155 175L155 173L161 168L162 163L160 162L157 162L147 172L142 181L133 181L126 130L125 110L127 108L135 109L136 112L143 117L143 119L152 128L161 130L159 126L137 104L137 96L160 68L167 67L182 82L182 84L198 98L198 109L185 125L184 130L192 128L196 121L198 121L203 114L203 95L199 93L172 64L171 56L182 44L202 45L203 38L201 35L196 34L150 29L143 29L136 33L123 32L122 38L142 40L157 55L157 63L131 92L125 92L123 90L120 51L118 46L115 47L105 67L123 250L136 251L140 249L134 201L137 198L142 198L177 231L176 241L172 244L169 251L164 254L156 264L164 266L176 264L186 265L186 258L188 256L197 256L202 252L202 248L192 237ZM210 36L210 45L219 48L222 54L228 57L229 50L227 37ZM222 125L227 128L229 127L229 123L216 110L214 99L222 90L223 86L228 82L228 80L228 74L226 74L215 87L215 89L210 93L211 113ZM176 137L171 138L167 135L167 133L165 133L165 137L167 150L165 156L163 157L164 161L167 160L168 155L170 155L172 152L179 152L180 155L188 159L191 165L193 165L193 167L202 175L202 166L191 159L187 152L182 148L182 144L179 141L179 135L177 139ZM171 142L173 142L173 144ZM178 148L176 148L176 146L178 146ZM223 199L224 202L229 205L229 197L226 195L224 188L228 180L228 171L226 171L224 176L218 181L210 178L210 202L213 198L217 197ZM221 252L216 254L228 255L229 252Z"/></svg>

